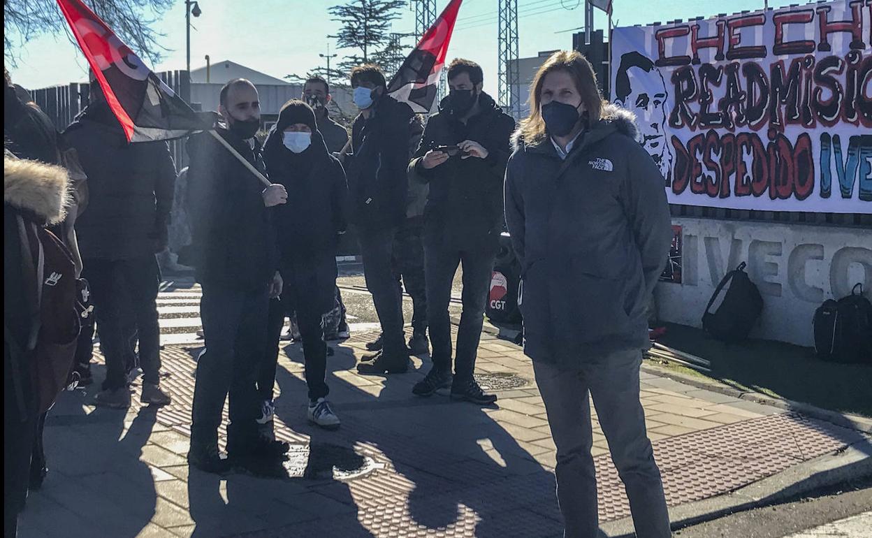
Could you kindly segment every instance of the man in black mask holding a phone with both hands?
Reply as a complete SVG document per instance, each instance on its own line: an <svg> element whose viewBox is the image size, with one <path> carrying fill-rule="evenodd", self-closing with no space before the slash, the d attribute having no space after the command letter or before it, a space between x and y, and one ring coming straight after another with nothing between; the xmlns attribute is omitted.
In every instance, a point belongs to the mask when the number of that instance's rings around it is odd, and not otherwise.
<svg viewBox="0 0 872 538"><path fill-rule="evenodd" d="M501 111L483 85L481 67L455 59L448 67L451 92L427 122L410 165L429 183L424 223L427 318L433 368L412 392L430 396L451 388L452 398L492 404L473 379L487 289L502 228L502 180L514 119ZM463 314L452 376L448 302L463 264Z"/></svg>

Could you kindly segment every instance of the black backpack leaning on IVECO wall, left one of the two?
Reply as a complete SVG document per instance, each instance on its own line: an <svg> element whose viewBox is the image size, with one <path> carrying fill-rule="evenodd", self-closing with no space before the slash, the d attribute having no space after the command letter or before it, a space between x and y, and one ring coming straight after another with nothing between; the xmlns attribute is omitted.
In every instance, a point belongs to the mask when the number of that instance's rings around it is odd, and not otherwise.
<svg viewBox="0 0 872 538"><path fill-rule="evenodd" d="M763 297L748 278L745 268L746 263L741 262L739 267L728 272L705 306L703 329L724 342L745 340L763 310ZM727 283L730 287L724 293L724 300L712 313L712 304L718 300Z"/></svg>

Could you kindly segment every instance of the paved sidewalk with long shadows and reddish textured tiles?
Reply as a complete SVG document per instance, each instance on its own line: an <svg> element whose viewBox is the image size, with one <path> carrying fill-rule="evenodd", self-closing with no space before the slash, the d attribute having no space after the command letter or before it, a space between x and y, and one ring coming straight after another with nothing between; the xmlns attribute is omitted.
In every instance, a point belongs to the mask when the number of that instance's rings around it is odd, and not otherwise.
<svg viewBox="0 0 872 538"><path fill-rule="evenodd" d="M163 352L171 374L163 383L174 397L167 408L95 409L89 402L96 385L65 393L46 426L51 471L28 501L21 536L562 535L555 447L520 348L482 338L480 382L500 395L499 406L489 409L439 395L413 397L428 358L414 358L415 371L405 375L359 376L357 358L374 337L358 333L334 346L328 384L343 419L337 432L306 423L302 351L284 348L276 437L294 444L286 480L188 472L198 352L191 345ZM96 371L101 378L102 367ZM671 506L866 439L645 372L641 388ZM629 515L629 507L603 433L596 424L594 431L600 516L613 521Z"/></svg>

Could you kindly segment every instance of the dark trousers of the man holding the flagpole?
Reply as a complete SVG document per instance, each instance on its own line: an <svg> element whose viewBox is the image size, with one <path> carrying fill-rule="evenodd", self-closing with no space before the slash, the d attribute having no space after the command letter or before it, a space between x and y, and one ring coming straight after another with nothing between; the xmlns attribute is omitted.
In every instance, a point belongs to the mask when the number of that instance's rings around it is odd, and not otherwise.
<svg viewBox="0 0 872 538"><path fill-rule="evenodd" d="M200 316L206 349L197 361L191 443L218 440L221 411L229 394L228 452L257 434L260 411L255 373L267 337L269 296L262 289L244 291L202 285Z"/></svg>

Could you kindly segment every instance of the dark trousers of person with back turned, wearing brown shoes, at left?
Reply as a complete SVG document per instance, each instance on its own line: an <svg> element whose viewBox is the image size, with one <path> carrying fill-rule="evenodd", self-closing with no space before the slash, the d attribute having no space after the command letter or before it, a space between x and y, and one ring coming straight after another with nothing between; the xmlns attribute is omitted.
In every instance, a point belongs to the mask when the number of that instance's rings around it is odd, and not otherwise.
<svg viewBox="0 0 872 538"><path fill-rule="evenodd" d="M84 262L91 285L100 348L106 357L103 389L126 385L131 331L138 331L140 365L146 383L160 382L158 286L160 269L154 255L128 260L90 259ZM134 326L132 327L131 320Z"/></svg>

